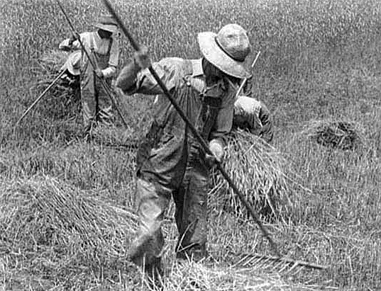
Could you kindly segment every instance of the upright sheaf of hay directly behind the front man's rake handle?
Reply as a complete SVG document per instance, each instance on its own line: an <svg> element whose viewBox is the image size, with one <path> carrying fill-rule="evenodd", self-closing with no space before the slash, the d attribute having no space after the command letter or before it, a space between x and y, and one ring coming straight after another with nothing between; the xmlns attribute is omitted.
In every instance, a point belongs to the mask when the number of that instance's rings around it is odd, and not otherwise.
<svg viewBox="0 0 381 291"><path fill-rule="evenodd" d="M289 193L281 154L260 137L243 130L231 132L226 152L224 168L245 199L264 218L280 217L280 208L288 202ZM217 203L215 207L222 206L245 217L245 207L223 177L219 173L212 177L212 205Z"/></svg>

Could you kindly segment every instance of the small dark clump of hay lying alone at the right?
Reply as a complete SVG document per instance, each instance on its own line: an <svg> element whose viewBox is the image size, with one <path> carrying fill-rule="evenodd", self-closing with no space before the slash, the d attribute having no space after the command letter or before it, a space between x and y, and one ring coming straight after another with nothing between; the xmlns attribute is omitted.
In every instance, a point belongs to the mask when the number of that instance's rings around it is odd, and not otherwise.
<svg viewBox="0 0 381 291"><path fill-rule="evenodd" d="M302 135L324 147L343 150L355 149L365 140L360 125L343 120L311 120Z"/></svg>

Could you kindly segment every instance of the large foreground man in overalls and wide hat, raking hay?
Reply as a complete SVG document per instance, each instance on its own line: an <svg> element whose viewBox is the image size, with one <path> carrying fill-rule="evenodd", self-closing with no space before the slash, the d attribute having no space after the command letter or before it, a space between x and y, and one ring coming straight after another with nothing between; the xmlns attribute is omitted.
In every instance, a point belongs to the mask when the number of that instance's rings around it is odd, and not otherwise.
<svg viewBox="0 0 381 291"><path fill-rule="evenodd" d="M246 69L250 42L240 25L225 25L217 34L199 33L197 40L201 59L170 57L154 62L153 68L209 142L214 157L205 154L148 69L142 69L149 65L146 48L136 52L116 79L116 86L128 95L161 94L150 130L138 149L140 229L129 253L134 263L145 266L149 276L160 271L161 224L171 197L180 234L177 258L206 256L209 170L211 161L223 158L224 137L233 121L235 87L229 77L250 76Z"/></svg>

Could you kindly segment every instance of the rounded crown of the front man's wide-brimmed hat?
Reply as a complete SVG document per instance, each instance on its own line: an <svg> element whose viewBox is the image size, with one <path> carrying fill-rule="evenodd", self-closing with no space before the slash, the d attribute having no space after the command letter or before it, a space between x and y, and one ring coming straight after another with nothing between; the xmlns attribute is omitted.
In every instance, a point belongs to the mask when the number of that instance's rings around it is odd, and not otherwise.
<svg viewBox="0 0 381 291"><path fill-rule="evenodd" d="M232 59L243 62L250 54L250 41L246 31L238 24L227 24L216 35L217 45Z"/></svg>

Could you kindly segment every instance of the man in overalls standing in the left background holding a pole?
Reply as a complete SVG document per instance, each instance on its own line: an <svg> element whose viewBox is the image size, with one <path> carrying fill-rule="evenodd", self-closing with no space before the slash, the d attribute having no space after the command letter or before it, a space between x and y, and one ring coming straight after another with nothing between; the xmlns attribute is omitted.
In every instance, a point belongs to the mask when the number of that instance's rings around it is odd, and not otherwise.
<svg viewBox="0 0 381 291"><path fill-rule="evenodd" d="M111 101L101 85L101 78L107 84L116 74L118 66L119 45L116 33L118 26L112 16L101 16L99 22L94 24L98 28L94 32L81 33L82 44L86 47L90 57L93 58L97 68L94 69L88 62L86 54L82 52L80 64L82 117L84 122L84 136L89 138L97 122L106 125L114 121ZM63 40L60 50L81 50L82 47L75 36Z"/></svg>

